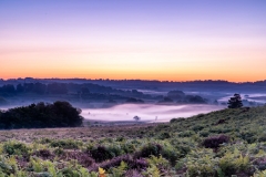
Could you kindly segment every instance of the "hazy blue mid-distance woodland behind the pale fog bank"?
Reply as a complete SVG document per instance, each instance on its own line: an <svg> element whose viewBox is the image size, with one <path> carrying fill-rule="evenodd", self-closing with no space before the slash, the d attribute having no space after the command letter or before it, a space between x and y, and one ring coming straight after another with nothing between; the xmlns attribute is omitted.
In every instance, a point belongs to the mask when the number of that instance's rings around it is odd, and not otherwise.
<svg viewBox="0 0 266 177"><path fill-rule="evenodd" d="M173 90L165 95L144 94L137 90L119 90L111 86L103 86L92 83L19 83L4 84L0 86L0 105L8 105L8 101L21 100L32 102L31 98L45 98L45 102L57 97L71 103L80 104L89 102L101 102L102 107L117 104L207 104L213 103L200 95L185 94L182 91ZM50 97L50 100L49 100ZM12 103L10 103L12 105Z"/></svg>

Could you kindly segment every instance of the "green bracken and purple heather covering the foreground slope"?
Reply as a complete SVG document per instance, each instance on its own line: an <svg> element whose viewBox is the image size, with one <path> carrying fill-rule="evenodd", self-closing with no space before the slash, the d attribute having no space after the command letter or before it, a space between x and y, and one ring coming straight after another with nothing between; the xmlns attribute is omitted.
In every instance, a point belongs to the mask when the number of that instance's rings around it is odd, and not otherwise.
<svg viewBox="0 0 266 177"><path fill-rule="evenodd" d="M266 106L167 124L0 132L0 177L264 177Z"/></svg>

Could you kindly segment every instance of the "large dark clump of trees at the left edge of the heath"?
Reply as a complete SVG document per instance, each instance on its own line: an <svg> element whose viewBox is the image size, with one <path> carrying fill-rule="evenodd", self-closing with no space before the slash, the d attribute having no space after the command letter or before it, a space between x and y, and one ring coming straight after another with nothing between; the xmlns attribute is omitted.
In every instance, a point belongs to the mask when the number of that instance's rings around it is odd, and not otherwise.
<svg viewBox="0 0 266 177"><path fill-rule="evenodd" d="M44 128L81 126L81 110L68 102L31 104L0 112L0 128Z"/></svg>

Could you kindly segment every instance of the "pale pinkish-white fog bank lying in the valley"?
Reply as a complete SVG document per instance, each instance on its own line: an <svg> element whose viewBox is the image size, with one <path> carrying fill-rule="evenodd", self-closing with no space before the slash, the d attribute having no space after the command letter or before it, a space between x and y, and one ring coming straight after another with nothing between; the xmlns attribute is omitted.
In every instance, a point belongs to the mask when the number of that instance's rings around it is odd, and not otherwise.
<svg viewBox="0 0 266 177"><path fill-rule="evenodd" d="M187 104L187 105L152 105L152 104L123 104L110 108L83 108L82 116L93 121L141 121L168 122L176 117L190 117L201 113L222 110L221 105Z"/></svg>

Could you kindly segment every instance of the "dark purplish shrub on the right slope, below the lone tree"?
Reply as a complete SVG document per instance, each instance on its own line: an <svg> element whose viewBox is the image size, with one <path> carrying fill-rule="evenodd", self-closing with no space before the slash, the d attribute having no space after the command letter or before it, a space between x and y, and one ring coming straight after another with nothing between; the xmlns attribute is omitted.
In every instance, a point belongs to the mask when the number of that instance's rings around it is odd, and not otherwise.
<svg viewBox="0 0 266 177"><path fill-rule="evenodd" d="M228 142L229 136L227 135L211 136L203 140L203 146L206 148L218 148L221 144Z"/></svg>

